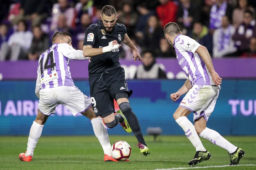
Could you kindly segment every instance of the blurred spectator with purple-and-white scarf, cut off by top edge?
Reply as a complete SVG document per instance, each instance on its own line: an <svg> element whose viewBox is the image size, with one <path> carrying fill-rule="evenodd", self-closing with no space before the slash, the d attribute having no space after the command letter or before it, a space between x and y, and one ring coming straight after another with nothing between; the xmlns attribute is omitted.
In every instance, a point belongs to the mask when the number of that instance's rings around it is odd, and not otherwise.
<svg viewBox="0 0 256 170"><path fill-rule="evenodd" d="M214 30L220 28L221 26L221 19L224 15L228 16L229 20L232 19L232 11L233 8L230 4L227 3L225 0L216 0L215 3L212 5L210 11L210 33L213 34Z"/></svg>

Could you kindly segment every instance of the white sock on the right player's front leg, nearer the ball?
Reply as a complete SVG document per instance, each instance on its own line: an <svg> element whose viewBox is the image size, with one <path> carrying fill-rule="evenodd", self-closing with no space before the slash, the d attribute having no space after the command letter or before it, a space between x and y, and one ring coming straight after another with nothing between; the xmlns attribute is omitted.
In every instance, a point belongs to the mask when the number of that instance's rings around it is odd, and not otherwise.
<svg viewBox="0 0 256 170"><path fill-rule="evenodd" d="M190 142L196 148L196 151L206 151L200 138L198 137L198 135L196 133L196 129L195 129L194 125L188 120L188 118L186 116L179 117L175 121L184 130L185 135L188 137Z"/></svg>

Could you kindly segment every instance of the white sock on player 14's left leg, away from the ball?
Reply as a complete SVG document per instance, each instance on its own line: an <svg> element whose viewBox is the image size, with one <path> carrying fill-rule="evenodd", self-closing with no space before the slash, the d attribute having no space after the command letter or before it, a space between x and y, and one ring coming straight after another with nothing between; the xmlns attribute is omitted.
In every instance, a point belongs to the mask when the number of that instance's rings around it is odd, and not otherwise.
<svg viewBox="0 0 256 170"><path fill-rule="evenodd" d="M28 136L28 147L27 147L27 152L25 153L25 156L33 156L34 154L34 149L36 147L37 141L40 138L42 131L43 131L44 125L40 125L36 123L35 121L33 122L30 131L29 131L29 136Z"/></svg>

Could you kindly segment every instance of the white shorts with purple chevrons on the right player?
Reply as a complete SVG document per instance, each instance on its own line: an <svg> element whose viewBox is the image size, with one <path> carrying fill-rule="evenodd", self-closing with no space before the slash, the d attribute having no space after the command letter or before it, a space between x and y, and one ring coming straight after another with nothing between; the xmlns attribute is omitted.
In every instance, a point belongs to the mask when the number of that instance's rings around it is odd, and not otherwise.
<svg viewBox="0 0 256 170"><path fill-rule="evenodd" d="M180 107L184 107L194 113L194 122L202 116L208 121L219 93L220 86L193 85L180 102Z"/></svg>

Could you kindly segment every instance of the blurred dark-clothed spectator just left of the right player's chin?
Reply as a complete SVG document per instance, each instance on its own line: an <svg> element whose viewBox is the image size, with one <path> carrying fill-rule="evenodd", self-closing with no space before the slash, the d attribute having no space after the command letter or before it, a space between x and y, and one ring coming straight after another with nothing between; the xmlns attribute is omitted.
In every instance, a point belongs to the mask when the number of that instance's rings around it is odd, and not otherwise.
<svg viewBox="0 0 256 170"><path fill-rule="evenodd" d="M165 38L160 39L160 53L158 57L161 57L161 58L176 57L175 50L171 48L171 46L168 44Z"/></svg>

